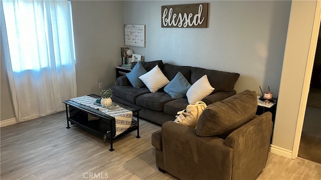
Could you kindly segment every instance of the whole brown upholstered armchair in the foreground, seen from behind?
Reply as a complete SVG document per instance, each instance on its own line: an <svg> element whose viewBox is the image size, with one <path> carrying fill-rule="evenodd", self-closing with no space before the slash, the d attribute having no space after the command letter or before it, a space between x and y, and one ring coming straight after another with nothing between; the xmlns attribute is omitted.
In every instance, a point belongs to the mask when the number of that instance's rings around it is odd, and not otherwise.
<svg viewBox="0 0 321 180"><path fill-rule="evenodd" d="M272 115L243 91L203 111L197 128L169 121L152 134L156 166L180 179L255 179L266 164Z"/></svg>

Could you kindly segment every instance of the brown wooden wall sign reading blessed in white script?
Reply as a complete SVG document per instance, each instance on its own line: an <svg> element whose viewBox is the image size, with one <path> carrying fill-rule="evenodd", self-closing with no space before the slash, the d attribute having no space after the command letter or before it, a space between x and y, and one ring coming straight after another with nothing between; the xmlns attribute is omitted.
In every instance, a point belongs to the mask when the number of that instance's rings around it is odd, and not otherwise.
<svg viewBox="0 0 321 180"><path fill-rule="evenodd" d="M162 6L162 28L207 28L208 3Z"/></svg>

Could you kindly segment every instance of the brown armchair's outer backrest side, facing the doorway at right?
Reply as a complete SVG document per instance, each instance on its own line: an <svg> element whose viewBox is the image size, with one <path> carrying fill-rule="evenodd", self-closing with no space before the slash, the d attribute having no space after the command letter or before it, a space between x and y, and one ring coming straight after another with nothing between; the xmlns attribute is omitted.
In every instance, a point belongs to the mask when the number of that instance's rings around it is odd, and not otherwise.
<svg viewBox="0 0 321 180"><path fill-rule="evenodd" d="M233 179L253 179L265 167L272 133L272 114L265 112L227 136L234 148ZM246 158L245 158L246 157Z"/></svg>

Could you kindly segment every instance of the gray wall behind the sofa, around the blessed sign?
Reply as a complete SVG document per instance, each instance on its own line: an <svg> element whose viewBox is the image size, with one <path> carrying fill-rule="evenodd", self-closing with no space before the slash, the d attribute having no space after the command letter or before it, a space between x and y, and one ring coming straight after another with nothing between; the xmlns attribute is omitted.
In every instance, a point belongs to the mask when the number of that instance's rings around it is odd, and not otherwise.
<svg viewBox="0 0 321 180"><path fill-rule="evenodd" d="M161 28L161 6L209 3L208 28ZM290 1L128 1L125 24L146 25L147 61L240 73L237 92L278 95Z"/></svg>

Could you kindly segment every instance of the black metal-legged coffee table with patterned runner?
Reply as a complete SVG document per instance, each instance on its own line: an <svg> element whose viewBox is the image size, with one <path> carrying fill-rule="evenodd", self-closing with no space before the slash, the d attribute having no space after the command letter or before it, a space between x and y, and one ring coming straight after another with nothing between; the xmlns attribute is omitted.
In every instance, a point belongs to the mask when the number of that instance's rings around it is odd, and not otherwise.
<svg viewBox="0 0 321 180"><path fill-rule="evenodd" d="M93 98L99 98L100 96L95 94L88 95ZM129 127L126 131L122 132L121 134L117 135L116 137L113 137L112 134L116 133L115 128L115 118L112 116L109 116L98 109L91 108L89 106L85 106L82 104L79 104L77 102L74 102L72 100L66 100L63 101L66 105L66 116L67 116L67 127L70 128L69 122L71 124L76 124L79 127L82 127L92 133L95 133L99 136L103 136L104 140L110 140L110 151L113 151L112 143L113 139L121 137L125 134L128 134L129 132L132 132L134 130L137 130L137 136L136 138L139 138L139 111L141 110L140 107L137 106L131 106L121 103L113 102L114 104L118 104L120 107L123 107L129 111L132 111L133 115L136 115L137 120L132 119L132 122L136 121L136 124ZM90 117L95 117L94 120L91 120ZM134 124L134 123L133 123ZM107 131L110 131L109 134L107 134Z"/></svg>

